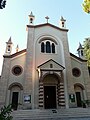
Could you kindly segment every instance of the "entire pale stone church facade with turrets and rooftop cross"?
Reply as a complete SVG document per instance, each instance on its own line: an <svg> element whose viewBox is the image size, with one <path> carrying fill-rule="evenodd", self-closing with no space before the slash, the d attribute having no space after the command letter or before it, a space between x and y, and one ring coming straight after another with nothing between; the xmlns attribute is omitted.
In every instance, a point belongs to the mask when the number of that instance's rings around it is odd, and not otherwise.
<svg viewBox="0 0 90 120"><path fill-rule="evenodd" d="M29 15L27 47L11 54L12 40L6 42L0 79L0 106L13 109L61 109L82 107L90 100L87 61L69 52L68 29L61 17L60 26L34 25Z"/></svg>

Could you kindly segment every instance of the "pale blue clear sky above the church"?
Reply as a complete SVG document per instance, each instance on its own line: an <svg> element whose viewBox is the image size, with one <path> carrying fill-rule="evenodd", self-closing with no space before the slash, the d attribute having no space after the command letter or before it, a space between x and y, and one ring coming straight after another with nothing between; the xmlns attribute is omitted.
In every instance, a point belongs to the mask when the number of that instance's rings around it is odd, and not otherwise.
<svg viewBox="0 0 90 120"><path fill-rule="evenodd" d="M27 45L26 25L29 24L28 15L35 15L34 24L49 23L59 27L61 16L66 19L68 31L69 51L77 55L79 42L83 44L85 38L90 37L90 14L82 9L83 0L6 0L6 7L0 9L0 73L6 42L11 37L13 52L17 44L19 50Z"/></svg>

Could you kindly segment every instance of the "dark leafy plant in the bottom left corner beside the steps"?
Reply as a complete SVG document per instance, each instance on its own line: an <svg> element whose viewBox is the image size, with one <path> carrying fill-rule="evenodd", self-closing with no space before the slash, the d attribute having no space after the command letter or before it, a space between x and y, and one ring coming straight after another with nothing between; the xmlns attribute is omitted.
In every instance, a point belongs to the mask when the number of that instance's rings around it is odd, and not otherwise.
<svg viewBox="0 0 90 120"><path fill-rule="evenodd" d="M8 105L7 107L2 107L0 113L0 120L12 120L13 117L11 116L11 112L11 105Z"/></svg>

